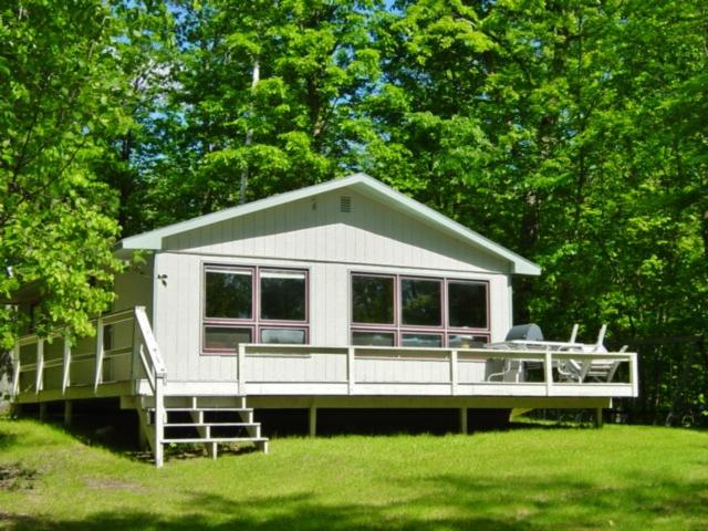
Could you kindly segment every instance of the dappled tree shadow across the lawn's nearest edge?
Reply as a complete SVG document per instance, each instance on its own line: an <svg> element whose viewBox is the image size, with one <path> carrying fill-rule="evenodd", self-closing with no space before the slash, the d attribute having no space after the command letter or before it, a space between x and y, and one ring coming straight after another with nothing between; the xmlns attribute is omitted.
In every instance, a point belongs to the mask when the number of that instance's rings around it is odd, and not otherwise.
<svg viewBox="0 0 708 531"><path fill-rule="evenodd" d="M77 520L52 520L0 512L0 527L21 530L188 531L344 531L363 530L475 530L540 531L549 529L705 529L708 485L656 477L629 478L623 488L584 481L518 479L473 480L465 476L434 476L395 482L403 489L397 501L340 503L309 492L291 496L233 497L188 493L174 516L169 507L156 512L100 512ZM336 485L332 486L336 489ZM384 494L383 499L387 499ZM391 498L388 498L391 499ZM159 503L159 500L156 501ZM156 507L159 511L159 506ZM668 528L666 527L668 524Z"/></svg>

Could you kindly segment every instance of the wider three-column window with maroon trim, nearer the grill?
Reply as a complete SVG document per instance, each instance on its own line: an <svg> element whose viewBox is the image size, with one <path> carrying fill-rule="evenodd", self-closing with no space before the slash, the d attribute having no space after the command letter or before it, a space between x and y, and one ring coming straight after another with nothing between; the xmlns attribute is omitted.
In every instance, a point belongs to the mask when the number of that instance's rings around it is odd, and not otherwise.
<svg viewBox="0 0 708 531"><path fill-rule="evenodd" d="M489 342L489 283L352 273L353 345L470 348Z"/></svg>

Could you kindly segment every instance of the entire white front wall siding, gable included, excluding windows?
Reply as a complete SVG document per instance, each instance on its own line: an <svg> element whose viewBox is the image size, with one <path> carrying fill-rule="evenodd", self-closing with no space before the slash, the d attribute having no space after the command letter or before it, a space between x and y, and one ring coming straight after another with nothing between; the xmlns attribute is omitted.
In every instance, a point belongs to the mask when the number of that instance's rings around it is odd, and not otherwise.
<svg viewBox="0 0 708 531"><path fill-rule="evenodd" d="M345 195L352 197L350 214L340 211L340 194L332 192L168 238L168 250L156 256L154 271L155 277L166 275L164 282L155 282L154 326L168 379L235 379L236 356L201 354L204 263L308 269L310 343L330 346L348 344L352 271L488 281L491 340L503 340L511 326L507 262L362 195L350 190ZM316 369L313 365L308 371L314 372L301 376L324 377L317 371L327 377L340 376L341 361L320 361L326 363ZM263 372L269 363L273 361L249 361L248 371ZM395 365L385 361L372 364L381 365L382 375L388 374L388 365ZM444 379L445 363L414 365L412 371L427 371ZM298 379L285 369L282 377Z"/></svg>

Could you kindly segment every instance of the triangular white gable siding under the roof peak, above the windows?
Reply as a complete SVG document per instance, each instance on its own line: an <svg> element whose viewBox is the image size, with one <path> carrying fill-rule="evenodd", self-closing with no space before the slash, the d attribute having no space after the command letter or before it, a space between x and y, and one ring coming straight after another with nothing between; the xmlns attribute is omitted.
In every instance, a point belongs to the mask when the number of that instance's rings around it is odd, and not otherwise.
<svg viewBox="0 0 708 531"><path fill-rule="evenodd" d="M475 249L388 206L347 191L258 211L167 238L168 250L216 256L264 257L382 266L419 266L506 273L506 261Z"/></svg>

